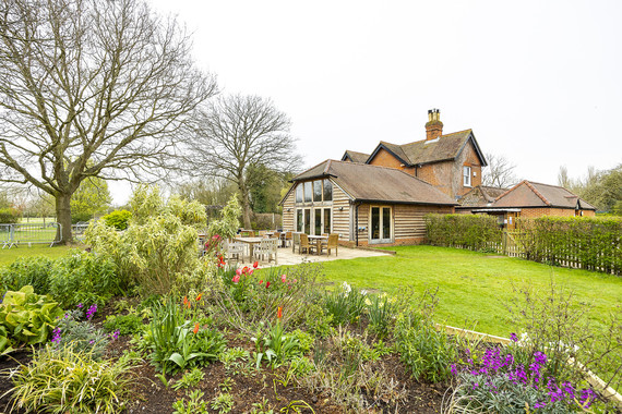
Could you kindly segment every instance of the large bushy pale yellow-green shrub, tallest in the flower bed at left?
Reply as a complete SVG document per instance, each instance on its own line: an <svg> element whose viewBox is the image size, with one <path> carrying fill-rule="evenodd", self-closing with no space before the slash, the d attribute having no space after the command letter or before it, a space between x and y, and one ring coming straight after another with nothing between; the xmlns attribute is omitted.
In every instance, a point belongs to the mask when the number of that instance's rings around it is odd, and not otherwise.
<svg viewBox="0 0 622 414"><path fill-rule="evenodd" d="M164 203L156 188L141 186L130 200L128 230L117 232L97 222L85 232L93 249L115 261L122 280L145 294L203 290L213 264L199 259L198 230L205 227L205 209L198 202L174 196Z"/></svg>

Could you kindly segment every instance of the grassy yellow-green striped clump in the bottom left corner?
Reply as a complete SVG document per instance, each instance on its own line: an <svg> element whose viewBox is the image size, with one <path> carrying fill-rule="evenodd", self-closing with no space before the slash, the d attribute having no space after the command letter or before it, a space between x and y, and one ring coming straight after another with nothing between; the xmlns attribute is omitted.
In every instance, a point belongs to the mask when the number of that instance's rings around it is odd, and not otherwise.
<svg viewBox="0 0 622 414"><path fill-rule="evenodd" d="M133 360L97 362L72 346L46 346L13 375L12 410L119 413L131 390Z"/></svg>

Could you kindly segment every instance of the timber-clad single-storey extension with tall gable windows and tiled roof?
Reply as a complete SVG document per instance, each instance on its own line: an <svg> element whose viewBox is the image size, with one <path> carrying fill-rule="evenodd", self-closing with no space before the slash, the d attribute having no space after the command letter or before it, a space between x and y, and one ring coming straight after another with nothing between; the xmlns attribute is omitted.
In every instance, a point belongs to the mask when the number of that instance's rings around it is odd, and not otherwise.
<svg viewBox="0 0 622 414"><path fill-rule="evenodd" d="M453 212L456 205L406 171L336 160L295 176L280 204L284 229L338 233L342 244L357 246L420 243L423 217Z"/></svg>

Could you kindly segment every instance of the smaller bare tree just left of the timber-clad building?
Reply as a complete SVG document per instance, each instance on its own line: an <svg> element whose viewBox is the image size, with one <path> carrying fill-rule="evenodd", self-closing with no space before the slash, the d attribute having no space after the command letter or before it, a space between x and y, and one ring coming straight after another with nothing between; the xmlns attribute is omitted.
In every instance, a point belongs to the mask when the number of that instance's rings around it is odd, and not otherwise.
<svg viewBox="0 0 622 414"><path fill-rule="evenodd" d="M246 228L251 226L249 167L263 163L275 171L291 171L300 162L289 127L287 115L259 96L223 97L202 118L190 151L192 165L236 183Z"/></svg>

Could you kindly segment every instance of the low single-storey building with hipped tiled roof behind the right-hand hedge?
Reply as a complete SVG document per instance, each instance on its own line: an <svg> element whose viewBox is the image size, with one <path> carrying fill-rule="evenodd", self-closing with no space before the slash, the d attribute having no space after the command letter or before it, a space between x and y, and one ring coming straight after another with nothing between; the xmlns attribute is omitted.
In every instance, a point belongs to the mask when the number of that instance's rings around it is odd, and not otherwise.
<svg viewBox="0 0 622 414"><path fill-rule="evenodd" d="M523 180L497 197L490 206L473 208L471 212L498 216L500 224L513 230L518 217L591 217L596 215L596 207L559 185Z"/></svg>

